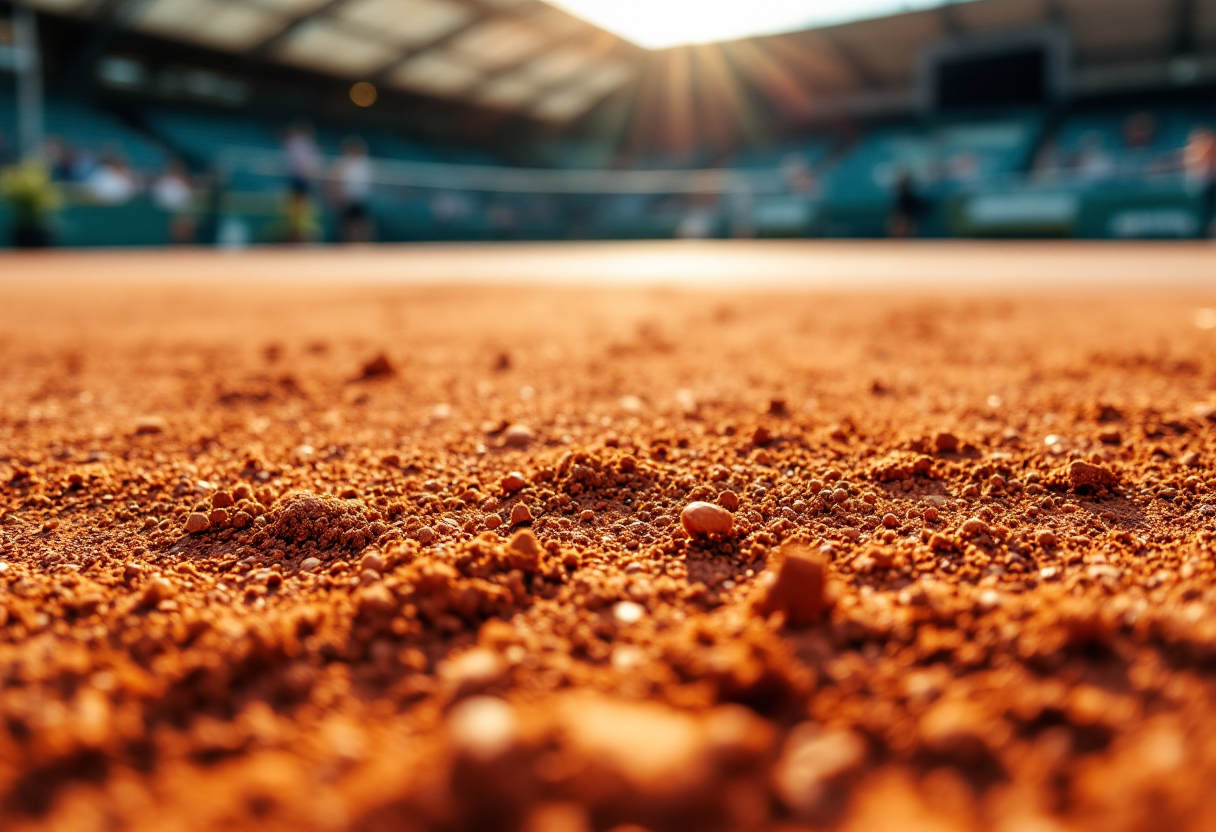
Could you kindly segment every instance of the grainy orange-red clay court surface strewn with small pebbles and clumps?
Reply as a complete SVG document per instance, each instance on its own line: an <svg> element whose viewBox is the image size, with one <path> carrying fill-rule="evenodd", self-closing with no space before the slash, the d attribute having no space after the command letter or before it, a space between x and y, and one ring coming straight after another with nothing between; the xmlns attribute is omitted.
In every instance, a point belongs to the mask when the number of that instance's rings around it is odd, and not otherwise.
<svg viewBox="0 0 1216 832"><path fill-rule="evenodd" d="M1216 828L1214 347L1199 244L2 255L0 828Z"/></svg>

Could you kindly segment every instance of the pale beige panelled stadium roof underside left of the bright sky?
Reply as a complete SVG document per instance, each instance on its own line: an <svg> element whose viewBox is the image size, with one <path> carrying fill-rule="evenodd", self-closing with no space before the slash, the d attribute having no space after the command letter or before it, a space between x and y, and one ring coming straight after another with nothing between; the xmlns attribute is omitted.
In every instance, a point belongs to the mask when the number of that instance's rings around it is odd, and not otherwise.
<svg viewBox="0 0 1216 832"><path fill-rule="evenodd" d="M22 1L556 122L580 116L637 71L636 46L540 0Z"/></svg>

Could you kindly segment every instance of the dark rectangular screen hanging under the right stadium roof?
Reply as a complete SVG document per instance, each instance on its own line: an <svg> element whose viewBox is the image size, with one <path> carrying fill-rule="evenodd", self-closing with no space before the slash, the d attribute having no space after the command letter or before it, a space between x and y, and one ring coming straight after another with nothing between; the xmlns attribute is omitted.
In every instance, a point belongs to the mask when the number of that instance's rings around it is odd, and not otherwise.
<svg viewBox="0 0 1216 832"><path fill-rule="evenodd" d="M1047 52L1041 46L938 64L939 109L1041 105L1047 100Z"/></svg>

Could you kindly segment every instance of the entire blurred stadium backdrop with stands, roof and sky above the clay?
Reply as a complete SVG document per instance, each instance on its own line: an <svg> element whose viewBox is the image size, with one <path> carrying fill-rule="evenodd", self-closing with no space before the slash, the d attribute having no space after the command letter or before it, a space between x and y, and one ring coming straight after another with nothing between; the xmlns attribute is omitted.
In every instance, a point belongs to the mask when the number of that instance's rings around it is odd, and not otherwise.
<svg viewBox="0 0 1216 832"><path fill-rule="evenodd" d="M1214 128L1216 0L0 0L4 247L1199 238Z"/></svg>

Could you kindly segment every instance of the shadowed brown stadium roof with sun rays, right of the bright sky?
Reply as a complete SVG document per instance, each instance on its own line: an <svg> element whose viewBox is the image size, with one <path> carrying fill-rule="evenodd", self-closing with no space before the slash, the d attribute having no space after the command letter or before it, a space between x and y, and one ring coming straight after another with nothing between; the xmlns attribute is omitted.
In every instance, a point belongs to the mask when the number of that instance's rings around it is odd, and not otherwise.
<svg viewBox="0 0 1216 832"><path fill-rule="evenodd" d="M967 0L651 52L634 99L647 112L636 118L654 125L666 117L683 122L686 134L705 135L715 120L724 133L731 120L734 133L749 133L775 113L795 122L908 113L928 49L1000 47L1032 32L1068 34L1070 72L1062 80L1073 96L1216 80L1216 0ZM672 102L681 85L694 105ZM728 118L708 113L704 102L724 99Z"/></svg>

